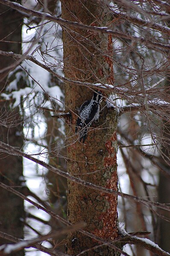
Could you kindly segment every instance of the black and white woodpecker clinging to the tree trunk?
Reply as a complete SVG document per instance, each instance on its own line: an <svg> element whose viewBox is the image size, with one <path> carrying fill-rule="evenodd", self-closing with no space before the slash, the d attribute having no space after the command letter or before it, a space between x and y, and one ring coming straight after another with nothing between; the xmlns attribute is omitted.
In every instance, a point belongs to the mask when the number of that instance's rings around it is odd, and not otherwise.
<svg viewBox="0 0 170 256"><path fill-rule="evenodd" d="M91 100L86 100L79 109L79 117L76 121L75 133L79 128L79 141L84 143L88 128L93 121L99 119L100 103L103 100L103 94L99 91L94 92Z"/></svg>

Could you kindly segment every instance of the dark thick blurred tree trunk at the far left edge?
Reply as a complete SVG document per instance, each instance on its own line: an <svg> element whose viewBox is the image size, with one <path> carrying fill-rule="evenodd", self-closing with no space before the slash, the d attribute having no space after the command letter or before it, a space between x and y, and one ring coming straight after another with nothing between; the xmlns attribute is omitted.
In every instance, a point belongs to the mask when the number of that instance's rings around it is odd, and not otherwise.
<svg viewBox="0 0 170 256"><path fill-rule="evenodd" d="M0 50L21 53L21 14L5 5L0 5L0 12L0 40L2 40L0 41ZM14 41L14 43L9 43L9 41ZM0 70L9 67L13 62L14 60L9 57L0 56ZM9 70L0 74L1 92L6 92L6 76L8 73ZM0 126L0 141L20 149L23 145L23 127L18 109L10 109L9 102L5 103L1 100L0 119L4 124ZM22 175L22 158L1 153L0 182L10 186L21 186L20 177ZM21 191L20 188L15 189ZM0 231L23 238L23 200L15 194L0 188L0 205ZM0 245L4 243L9 243L9 241L0 238ZM23 256L24 250L12 255Z"/></svg>

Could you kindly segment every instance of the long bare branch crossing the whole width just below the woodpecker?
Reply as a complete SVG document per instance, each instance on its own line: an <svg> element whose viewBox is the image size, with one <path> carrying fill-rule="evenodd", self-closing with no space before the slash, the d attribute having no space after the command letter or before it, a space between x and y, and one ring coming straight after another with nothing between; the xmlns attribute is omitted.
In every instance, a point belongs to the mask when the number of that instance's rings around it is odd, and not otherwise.
<svg viewBox="0 0 170 256"><path fill-rule="evenodd" d="M132 195L129 195L129 194L121 193L119 191L114 191L114 190L109 189L109 188L104 188L104 187L101 187L101 186L98 186L98 185L94 185L91 182L86 182L83 179L73 177L69 173L61 171L58 168L55 168L55 167L53 167L51 165L48 165L47 163L45 163L45 162L43 162L43 161L41 161L39 159L36 159L36 158L26 154L26 153L23 153L22 151L16 149L15 147L12 147L12 146L10 146L10 145L2 142L2 141L0 141L0 147L3 148L5 151L7 151L9 154L12 154L12 155L15 155L15 156L25 157L26 159L29 159L29 160L31 160L31 161L33 161L35 163L38 163L39 165L47 168L49 171L52 171L55 174L58 174L58 175L66 178L66 179L69 179L69 180L71 180L73 182L81 184L81 185L83 185L85 187L92 188L94 190L97 190L97 191L100 191L100 192L103 192L103 193L118 195L120 197L124 197L124 198L127 198L127 199L132 199L134 201L143 203L145 206L155 206L155 207L158 207L160 209L164 209L164 210L167 210L168 212L170 212L170 206L166 206L165 204L161 204L161 203L158 203L158 202L152 202L152 201L149 201L149 200L146 200L146 199L142 199L142 198L139 198L139 197L135 197L135 196L132 196ZM0 182L0 186L4 187L6 185L3 184L2 182ZM6 186L6 188L7 187L8 186Z"/></svg>

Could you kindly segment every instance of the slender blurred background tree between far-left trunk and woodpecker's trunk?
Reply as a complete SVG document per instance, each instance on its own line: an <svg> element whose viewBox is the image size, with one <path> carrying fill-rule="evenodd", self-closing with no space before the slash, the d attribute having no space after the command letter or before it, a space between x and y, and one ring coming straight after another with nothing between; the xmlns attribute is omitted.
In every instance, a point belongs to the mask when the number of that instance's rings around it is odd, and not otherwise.
<svg viewBox="0 0 170 256"><path fill-rule="evenodd" d="M60 1L51 1L48 3L48 10L53 13L53 15L60 15ZM44 8L44 4L41 3L41 7ZM50 27L50 26L49 26ZM51 36L51 35L50 35ZM52 37L52 36L51 36ZM55 38L55 35L53 36ZM58 39L62 37L62 34L59 34ZM53 41L53 40L51 40ZM47 41L48 42L48 41ZM44 43L47 43L46 41ZM56 46L56 45L55 45ZM57 51L56 51L57 52ZM51 75L49 79L50 87L58 85L64 95L64 84L63 82ZM48 99L49 97L44 93L44 97ZM64 100L64 97L62 97ZM59 104L56 100L51 100L51 105L53 109L59 110ZM56 168L62 168L62 170L66 171L66 164L64 160L64 155L66 154L66 148L62 147L61 150L59 149L59 155L56 154L55 149L57 147L60 148L60 142L64 138L63 133L61 132L63 128L63 120L51 118L50 112L44 112L43 114L45 123L47 124L46 130L46 141L48 145L48 152L49 152L49 164L55 166ZM66 197L66 187L67 187L67 179L61 177L58 174L54 174L50 171L46 174L46 184L47 184L47 191L48 191L48 198L51 208L53 212L56 212L59 216L66 216L67 212L67 197ZM62 227L63 224L60 221L56 221L53 218L49 221L50 227L52 230L56 230L59 227ZM62 250L64 250L64 235L61 235L60 238L57 238L54 242L60 244Z"/></svg>

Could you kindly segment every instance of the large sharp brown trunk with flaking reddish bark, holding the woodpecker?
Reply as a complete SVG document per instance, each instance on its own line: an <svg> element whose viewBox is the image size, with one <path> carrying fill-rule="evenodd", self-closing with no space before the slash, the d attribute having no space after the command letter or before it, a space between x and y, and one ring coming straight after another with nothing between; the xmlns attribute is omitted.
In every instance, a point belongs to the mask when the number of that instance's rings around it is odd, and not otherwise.
<svg viewBox="0 0 170 256"><path fill-rule="evenodd" d="M106 26L107 6L96 0L62 0L62 18L93 26ZM82 82L112 82L112 41L104 35L86 30L63 29L65 77ZM109 39L109 40L108 40ZM103 51L103 53L101 53ZM70 111L71 123L66 125L67 171L88 182L117 190L117 113L105 107L99 123L93 124L85 144L78 141L75 132L77 107L93 92L86 87L65 84L65 106ZM104 104L103 104L104 106ZM76 114L75 114L76 112ZM100 127L101 129L95 129ZM87 189L68 181L67 217L70 223L85 221L87 230L100 238L114 240L117 230L117 197ZM98 245L91 238L74 232L67 236L66 253L76 255ZM91 249L86 255L115 255L107 246ZM116 254L117 255L117 254Z"/></svg>

